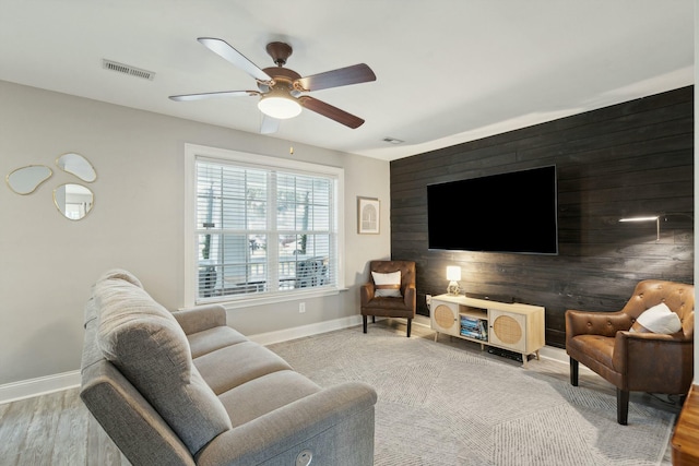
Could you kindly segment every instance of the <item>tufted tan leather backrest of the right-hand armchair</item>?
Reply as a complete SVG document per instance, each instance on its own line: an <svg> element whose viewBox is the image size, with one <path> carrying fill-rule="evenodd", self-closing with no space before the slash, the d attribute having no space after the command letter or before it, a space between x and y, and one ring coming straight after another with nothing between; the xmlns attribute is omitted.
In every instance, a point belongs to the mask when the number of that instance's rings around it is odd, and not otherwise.
<svg viewBox="0 0 699 466"><path fill-rule="evenodd" d="M639 282L621 312L636 320L643 311L661 302L679 316L685 338L691 338L695 333L694 285L657 279Z"/></svg>

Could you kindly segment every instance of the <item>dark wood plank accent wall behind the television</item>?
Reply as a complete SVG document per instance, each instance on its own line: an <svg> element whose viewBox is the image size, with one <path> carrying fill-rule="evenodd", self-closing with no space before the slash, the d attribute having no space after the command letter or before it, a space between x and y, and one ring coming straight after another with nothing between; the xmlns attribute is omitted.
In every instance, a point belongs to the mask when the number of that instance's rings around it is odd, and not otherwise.
<svg viewBox="0 0 699 466"><path fill-rule="evenodd" d="M553 164L557 255L428 250L427 184ZM475 202L454 200L453 228L478 227ZM618 222L659 213L679 214L660 241L653 222ZM565 347L567 309L619 310L644 278L694 283L692 217L694 86L391 162L391 255L417 263L418 312L460 265L466 292L544 306L552 346Z"/></svg>

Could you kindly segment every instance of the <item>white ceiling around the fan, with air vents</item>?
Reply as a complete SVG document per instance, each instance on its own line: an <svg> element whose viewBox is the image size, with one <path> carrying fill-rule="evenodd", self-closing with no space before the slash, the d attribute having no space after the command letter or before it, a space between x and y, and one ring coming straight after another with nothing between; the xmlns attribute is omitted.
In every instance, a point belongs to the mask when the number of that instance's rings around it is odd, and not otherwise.
<svg viewBox="0 0 699 466"><path fill-rule="evenodd" d="M272 138L395 159L694 84L692 0L0 0L0 80L259 132L253 89L197 41L260 68L283 40L301 75L367 63L377 81L311 93L362 117L308 110ZM102 68L109 59L153 81ZM392 145L387 136L405 141Z"/></svg>

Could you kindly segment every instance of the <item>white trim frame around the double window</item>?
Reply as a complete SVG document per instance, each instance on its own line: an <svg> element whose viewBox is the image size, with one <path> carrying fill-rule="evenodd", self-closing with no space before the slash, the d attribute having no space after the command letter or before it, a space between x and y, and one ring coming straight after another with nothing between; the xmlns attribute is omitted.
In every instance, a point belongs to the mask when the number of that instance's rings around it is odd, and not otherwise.
<svg viewBox="0 0 699 466"><path fill-rule="evenodd" d="M336 283L334 286L319 288L299 288L292 291L275 291L249 295L223 296L221 300L198 301L199 286L199 241L197 236L197 162L233 163L240 166L265 170L286 170L299 175L323 176L335 180L335 224L336 224ZM328 165L279 158L254 153L209 147L198 144L185 144L185 306L205 303L223 304L226 309L284 302L294 299L308 299L337 295L345 288L344 273L344 169Z"/></svg>

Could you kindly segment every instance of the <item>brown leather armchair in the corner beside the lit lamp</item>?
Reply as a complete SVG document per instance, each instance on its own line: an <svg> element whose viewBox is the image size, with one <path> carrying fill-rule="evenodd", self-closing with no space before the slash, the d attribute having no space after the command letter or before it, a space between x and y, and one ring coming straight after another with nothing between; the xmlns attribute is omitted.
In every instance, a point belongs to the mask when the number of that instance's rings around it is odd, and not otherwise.
<svg viewBox="0 0 699 466"><path fill-rule="evenodd" d="M401 272L400 298L377 296L377 286L371 272L389 274ZM380 292L379 292L380 294ZM417 303L415 291L415 262L410 261L371 261L369 263L369 282L360 288L362 319L364 333L367 333L367 316L371 322L376 316L407 319L407 336L411 336L411 322L415 319Z"/></svg>

